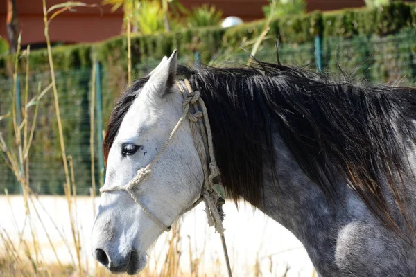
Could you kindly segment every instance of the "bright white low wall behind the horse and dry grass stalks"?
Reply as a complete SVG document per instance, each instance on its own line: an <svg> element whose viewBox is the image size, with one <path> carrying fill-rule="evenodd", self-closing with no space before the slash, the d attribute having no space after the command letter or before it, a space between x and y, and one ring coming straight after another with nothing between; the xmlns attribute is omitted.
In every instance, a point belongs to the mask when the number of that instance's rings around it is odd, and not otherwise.
<svg viewBox="0 0 416 277"><path fill-rule="evenodd" d="M39 200L47 209L58 229L67 238L71 246L72 256L76 259L73 251L66 199L61 196L40 196ZM98 199L96 199L96 203L98 204ZM53 240L61 262L70 264L71 255L49 219L49 215L43 211L37 200L35 200L35 206ZM220 275L225 276L226 269L220 238L218 234L214 233L214 228L207 226L204 208L205 205L202 203L180 220L182 224L180 229L182 246L180 270L184 276L187 276L187 273L189 274L189 240L191 240L191 250L194 254L200 255L205 247L200 274L213 276L220 271ZM1 195L0 211L0 231L4 229L17 245L19 235L12 220L12 214L14 214L16 224L21 231L25 221L23 198L21 196L11 196L9 205L6 197ZM78 226L80 226L83 264L88 265L89 270L93 272L95 262L90 251L94 221L92 199L90 197L78 197L76 211ZM263 213L253 211L251 206L245 206L244 204L241 204L239 211L237 211L232 202L227 202L224 211L226 213L225 235L234 276L253 276L256 260L261 261L263 276L281 276L284 274L286 266L290 267L287 276L313 276L313 265L302 244L284 227ZM31 208L31 215L42 254L46 262L55 263L55 255L33 208ZM32 238L27 227L24 239L30 243ZM155 248L149 252L148 266L150 266L150 269L155 268L155 263L162 267L166 258L166 241L170 236L171 232L162 235L155 244ZM4 246L0 244L0 255L3 251L5 251ZM272 272L270 272L270 265L272 265Z"/></svg>

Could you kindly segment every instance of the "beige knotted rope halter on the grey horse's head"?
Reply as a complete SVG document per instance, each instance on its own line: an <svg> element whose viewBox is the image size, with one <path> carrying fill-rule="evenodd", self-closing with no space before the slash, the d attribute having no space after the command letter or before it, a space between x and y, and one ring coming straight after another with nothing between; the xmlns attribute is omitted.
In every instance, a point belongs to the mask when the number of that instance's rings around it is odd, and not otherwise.
<svg viewBox="0 0 416 277"><path fill-rule="evenodd" d="M170 226L166 227L161 220L159 220L151 211L148 210L148 208L146 208L146 206L144 206L140 202L139 197L136 197L134 193L134 188L138 186L141 181L144 181L144 179L146 179L146 176L150 174L150 172L152 171L152 166L157 162L159 157L162 156L162 153L167 148L169 142L171 142L173 136L179 129L182 122L185 120L185 118L189 118L193 141L195 143L196 150L198 152L202 165L204 181L202 184L201 197L189 208L187 208L183 213L190 211L192 208L197 206L202 200L205 202L205 212L207 214L208 224L209 226L214 225L216 231L220 234L221 241L223 243L225 261L227 263L228 276L232 277L231 265L229 263L223 227L223 220L225 216L223 212L223 204L225 204L225 201L217 190L217 187L221 185L220 169L216 164L216 159L214 155L214 145L212 143L211 126L209 125L207 107L205 106L205 103L202 100L202 98L200 98L199 91L193 91L191 84L189 84L189 80L184 79L183 82L187 89L184 88L181 82L175 82L177 88L180 90L184 98L184 101L182 102L182 116L177 121L168 139L166 140L162 148L159 149L153 160L150 161L150 163L145 168L141 168L140 170L138 170L137 175L132 180L130 180L128 184L123 186L115 186L112 188L103 187L100 189L100 192L107 193L114 190L126 190L128 193L130 193L132 199L134 199L135 202L139 204L139 206L141 206L146 215L148 215L148 217L150 217L150 219L153 220L153 222L155 222L157 226L159 226L164 231L170 231ZM193 109L193 112L191 112L191 107ZM202 120L200 120L201 118ZM201 136L198 136L198 128L196 124L198 124Z"/></svg>

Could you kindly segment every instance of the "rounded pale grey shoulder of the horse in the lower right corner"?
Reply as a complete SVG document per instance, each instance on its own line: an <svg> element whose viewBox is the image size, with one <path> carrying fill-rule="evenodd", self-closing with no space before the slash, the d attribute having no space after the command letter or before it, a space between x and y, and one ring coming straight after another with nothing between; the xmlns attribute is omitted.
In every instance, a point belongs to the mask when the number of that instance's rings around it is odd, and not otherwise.
<svg viewBox="0 0 416 277"><path fill-rule="evenodd" d="M377 221L342 226L334 254L342 276L416 276L416 249Z"/></svg>

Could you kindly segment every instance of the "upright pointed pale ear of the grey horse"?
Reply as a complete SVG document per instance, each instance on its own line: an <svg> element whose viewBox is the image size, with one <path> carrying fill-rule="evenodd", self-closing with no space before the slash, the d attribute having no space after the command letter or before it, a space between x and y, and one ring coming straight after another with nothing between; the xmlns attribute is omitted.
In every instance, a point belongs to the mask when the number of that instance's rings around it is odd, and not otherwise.
<svg viewBox="0 0 416 277"><path fill-rule="evenodd" d="M164 96L164 93L173 85L176 78L177 51L174 50L171 57L162 59L162 62L150 73L149 80L144 85L144 90L149 96Z"/></svg>

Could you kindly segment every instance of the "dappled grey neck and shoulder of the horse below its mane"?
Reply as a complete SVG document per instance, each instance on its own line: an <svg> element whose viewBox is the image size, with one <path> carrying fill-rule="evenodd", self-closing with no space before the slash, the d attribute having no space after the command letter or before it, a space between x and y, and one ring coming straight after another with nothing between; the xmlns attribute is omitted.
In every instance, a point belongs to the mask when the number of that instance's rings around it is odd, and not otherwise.
<svg viewBox="0 0 416 277"><path fill-rule="evenodd" d="M275 145L277 182L272 181L272 170L265 169L265 199L258 208L284 225L304 244L321 276L354 276L350 275L351 272L372 276L372 262L383 265L378 267L378 276L386 276L393 269L410 270L409 273L416 274L403 265L397 265L397 268L391 266L394 255L383 256L380 251L374 250L379 247L399 256L409 255L403 243L397 240L394 233L380 226L345 181L333 184L338 197L335 201L328 200L322 190L304 174L279 136L275 137ZM367 252L361 247L362 244L368 244L365 245ZM372 250L376 253L369 256ZM415 251L410 252L416 262ZM367 264L364 265L363 261ZM366 268L366 265L369 267Z"/></svg>

